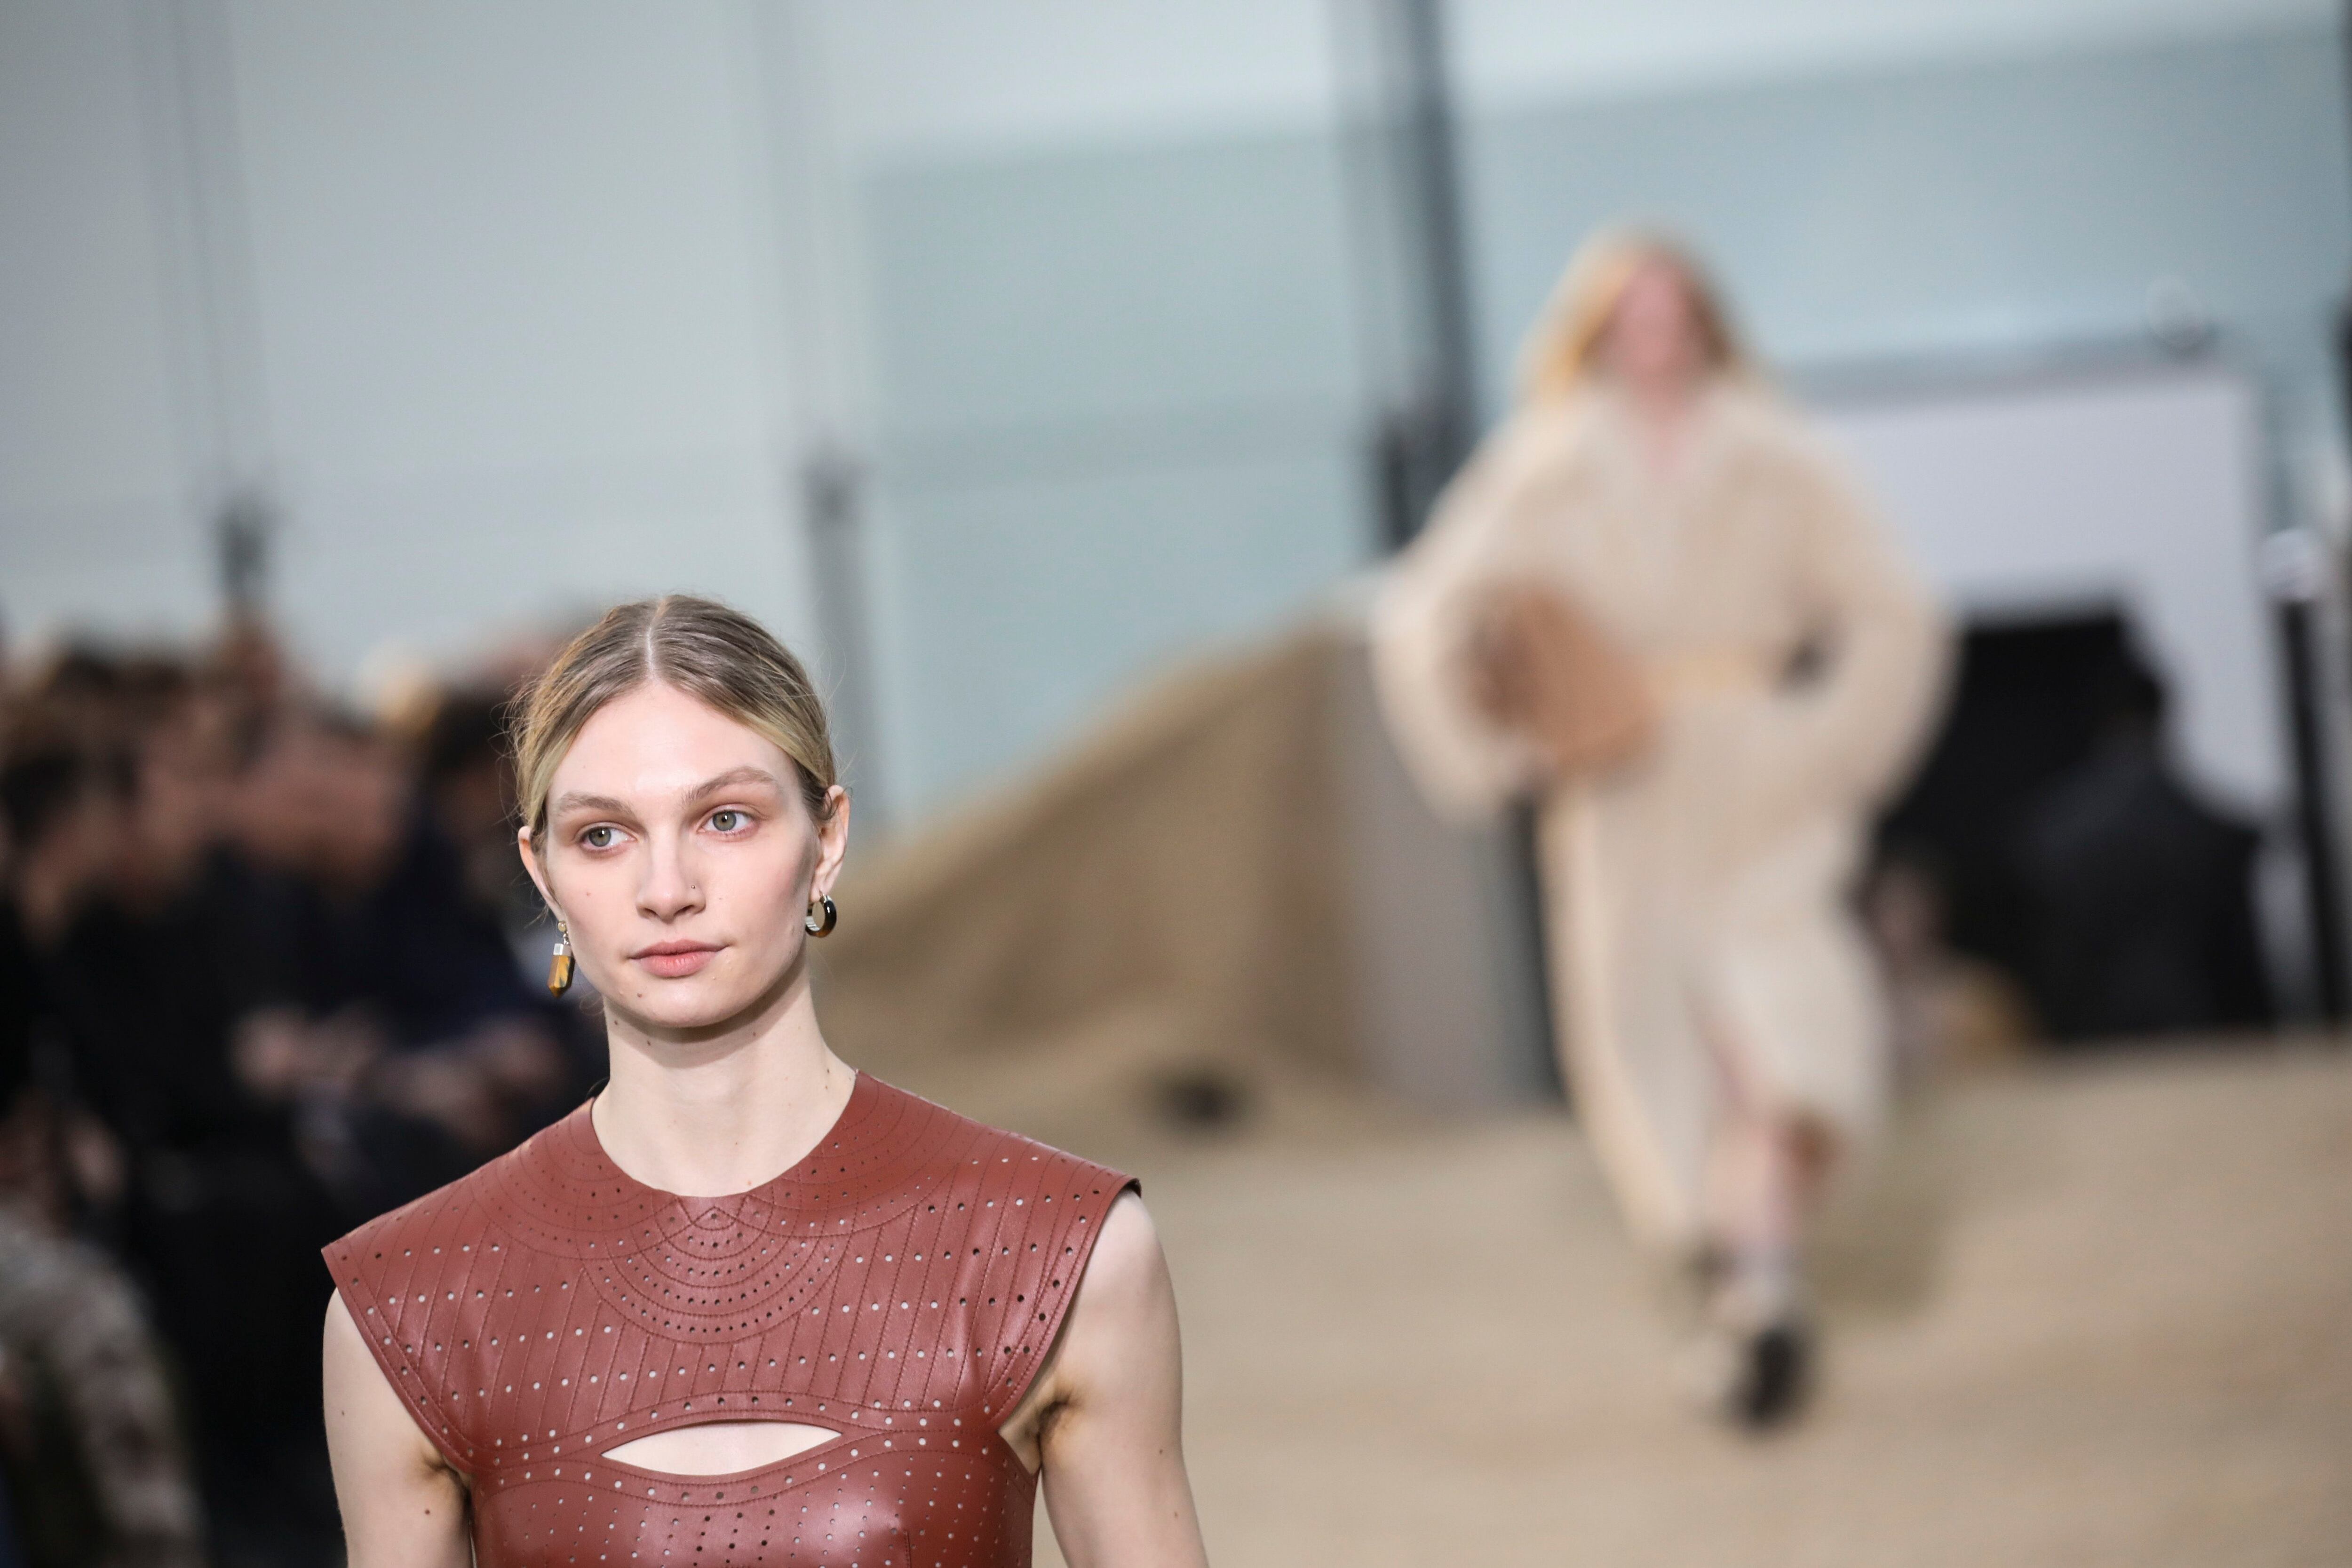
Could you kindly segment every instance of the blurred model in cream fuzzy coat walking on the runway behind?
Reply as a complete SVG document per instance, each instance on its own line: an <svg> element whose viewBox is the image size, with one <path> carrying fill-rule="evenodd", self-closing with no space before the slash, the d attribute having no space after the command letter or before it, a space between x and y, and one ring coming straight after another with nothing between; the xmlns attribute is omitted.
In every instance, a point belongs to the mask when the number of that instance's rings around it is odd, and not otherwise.
<svg viewBox="0 0 2352 1568"><path fill-rule="evenodd" d="M1945 642L1698 266L1623 235L1569 268L1378 609L1423 788L1538 802L1578 1112L1632 1229L1698 1269L1710 1396L1752 1425L1802 1399L1804 1220L1886 1095L1844 900Z"/></svg>

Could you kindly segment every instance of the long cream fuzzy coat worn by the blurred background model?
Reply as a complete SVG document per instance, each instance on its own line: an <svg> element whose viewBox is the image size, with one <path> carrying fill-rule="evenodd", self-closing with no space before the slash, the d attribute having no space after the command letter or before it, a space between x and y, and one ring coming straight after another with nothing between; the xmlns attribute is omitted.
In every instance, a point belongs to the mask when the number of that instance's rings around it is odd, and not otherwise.
<svg viewBox="0 0 2352 1568"><path fill-rule="evenodd" d="M1470 703L1475 621L1526 578L1644 668L1661 722L1632 764L1550 785ZM1938 703L1947 635L1792 409L1717 383L1668 477L1611 393L1524 409L1392 569L1374 658L1442 809L1541 797L1564 1070L1635 1232L1703 1239L1733 1095L1872 1128L1884 1004L1846 893L1867 811Z"/></svg>

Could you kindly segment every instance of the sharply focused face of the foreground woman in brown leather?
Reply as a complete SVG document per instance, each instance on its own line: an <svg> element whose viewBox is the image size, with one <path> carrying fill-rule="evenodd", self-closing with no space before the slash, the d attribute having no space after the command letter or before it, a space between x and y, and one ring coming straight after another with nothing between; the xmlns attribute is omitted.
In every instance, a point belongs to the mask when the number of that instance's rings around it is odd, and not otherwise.
<svg viewBox="0 0 2352 1568"><path fill-rule="evenodd" d="M849 844L849 797L830 804L814 823L774 741L649 682L581 726L522 860L607 1006L647 1034L713 1030L800 973L802 914Z"/></svg>

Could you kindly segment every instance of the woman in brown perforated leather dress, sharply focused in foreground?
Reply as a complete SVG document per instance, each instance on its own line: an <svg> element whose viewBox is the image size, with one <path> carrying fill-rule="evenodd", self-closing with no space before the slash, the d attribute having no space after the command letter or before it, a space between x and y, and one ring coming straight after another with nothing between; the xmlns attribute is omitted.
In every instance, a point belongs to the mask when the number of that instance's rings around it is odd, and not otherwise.
<svg viewBox="0 0 2352 1568"><path fill-rule="evenodd" d="M833 1056L849 797L800 663L623 604L532 689L522 865L612 1081L327 1248L353 1568L1204 1561L1129 1178Z"/></svg>

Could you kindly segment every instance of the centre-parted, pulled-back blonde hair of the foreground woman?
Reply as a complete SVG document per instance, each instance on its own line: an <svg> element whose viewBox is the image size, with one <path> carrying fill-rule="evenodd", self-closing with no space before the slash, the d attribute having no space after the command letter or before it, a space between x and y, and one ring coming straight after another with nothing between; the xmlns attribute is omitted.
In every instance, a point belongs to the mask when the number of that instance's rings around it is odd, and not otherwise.
<svg viewBox="0 0 2352 1568"><path fill-rule="evenodd" d="M800 771L809 816L828 816L833 736L809 672L774 632L739 609L691 595L635 599L574 637L522 693L515 741L515 804L541 849L548 788L581 726L604 703L647 682L677 686L753 733L774 741Z"/></svg>

